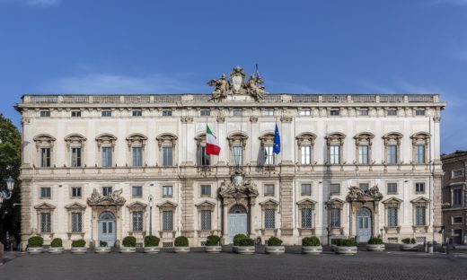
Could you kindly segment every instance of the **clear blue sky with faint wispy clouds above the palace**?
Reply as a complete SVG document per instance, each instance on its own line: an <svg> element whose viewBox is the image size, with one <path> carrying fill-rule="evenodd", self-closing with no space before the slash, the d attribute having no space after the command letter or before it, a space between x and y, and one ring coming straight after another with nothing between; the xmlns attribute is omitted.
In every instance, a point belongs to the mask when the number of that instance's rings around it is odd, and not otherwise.
<svg viewBox="0 0 467 280"><path fill-rule="evenodd" d="M0 0L0 111L24 93L210 92L254 65L269 92L431 93L467 149L467 0Z"/></svg>

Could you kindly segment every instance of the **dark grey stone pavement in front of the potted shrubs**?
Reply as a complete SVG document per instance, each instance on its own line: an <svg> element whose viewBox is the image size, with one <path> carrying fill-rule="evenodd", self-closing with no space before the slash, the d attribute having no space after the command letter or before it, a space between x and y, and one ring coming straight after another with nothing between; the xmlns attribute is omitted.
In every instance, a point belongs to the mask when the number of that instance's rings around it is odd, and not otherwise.
<svg viewBox="0 0 467 280"><path fill-rule="evenodd" d="M467 258L422 252L361 251L356 256L66 252L13 257L0 266L0 279L467 279Z"/></svg>

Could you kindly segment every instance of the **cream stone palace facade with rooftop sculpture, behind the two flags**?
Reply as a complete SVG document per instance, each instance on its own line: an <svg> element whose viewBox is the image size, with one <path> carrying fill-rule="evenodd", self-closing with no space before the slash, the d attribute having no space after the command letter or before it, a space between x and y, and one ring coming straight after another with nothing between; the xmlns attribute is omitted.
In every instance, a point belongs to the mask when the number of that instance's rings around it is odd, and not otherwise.
<svg viewBox="0 0 467 280"><path fill-rule="evenodd" d="M23 246L441 241L438 95L266 94L236 69L212 94L24 95Z"/></svg>

